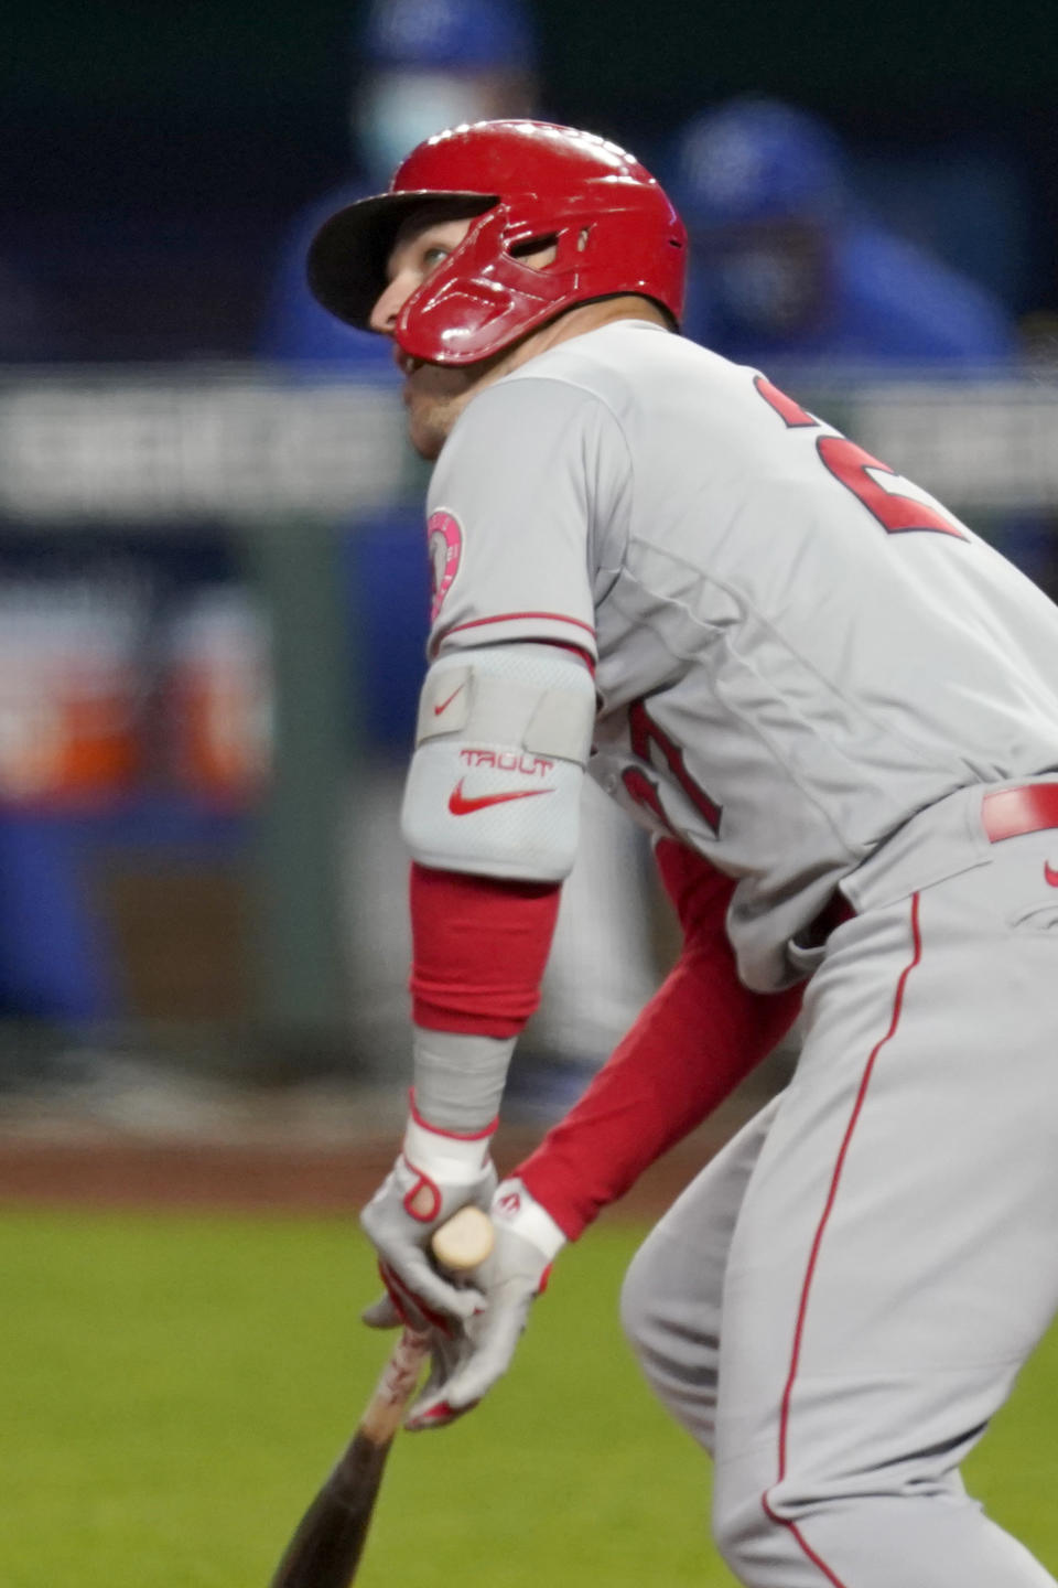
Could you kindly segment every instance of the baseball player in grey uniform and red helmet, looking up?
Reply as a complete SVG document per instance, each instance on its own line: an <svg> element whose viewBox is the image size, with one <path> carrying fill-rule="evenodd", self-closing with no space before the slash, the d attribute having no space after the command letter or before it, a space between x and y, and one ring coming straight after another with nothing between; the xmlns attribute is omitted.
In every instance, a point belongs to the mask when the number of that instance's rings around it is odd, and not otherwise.
<svg viewBox="0 0 1058 1588"><path fill-rule="evenodd" d="M320 302L392 338L436 459L414 1093L363 1213L390 1293L370 1320L438 1326L412 1426L473 1405L562 1245L804 988L790 1086L636 1256L628 1334L714 1456L742 1583L1042 1588L960 1463L1058 1305L1058 613L680 338L684 265L631 156L535 122L430 138L311 249ZM655 835L685 946L493 1191L585 769ZM425 1256L466 1202L496 1224L477 1293Z"/></svg>

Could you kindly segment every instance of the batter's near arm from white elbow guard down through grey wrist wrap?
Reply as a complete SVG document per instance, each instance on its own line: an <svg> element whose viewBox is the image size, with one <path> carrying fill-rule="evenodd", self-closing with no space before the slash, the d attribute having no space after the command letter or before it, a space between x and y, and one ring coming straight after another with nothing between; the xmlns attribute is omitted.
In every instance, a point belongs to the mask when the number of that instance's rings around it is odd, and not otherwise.
<svg viewBox="0 0 1058 1588"><path fill-rule="evenodd" d="M563 646L443 651L427 675L401 831L416 1102L443 1129L495 1121L539 1000L593 716L590 669Z"/></svg>

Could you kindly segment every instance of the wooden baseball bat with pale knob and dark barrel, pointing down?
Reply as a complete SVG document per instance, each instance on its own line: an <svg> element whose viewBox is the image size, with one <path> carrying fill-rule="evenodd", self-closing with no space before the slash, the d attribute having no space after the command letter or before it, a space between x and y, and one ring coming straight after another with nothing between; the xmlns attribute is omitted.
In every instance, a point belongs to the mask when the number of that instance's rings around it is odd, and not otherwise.
<svg viewBox="0 0 1058 1588"><path fill-rule="evenodd" d="M463 1207L435 1231L431 1247L443 1269L466 1274L485 1261L492 1240L489 1215ZM349 1588L355 1580L385 1458L428 1351L427 1334L403 1329L357 1431L301 1517L271 1588Z"/></svg>

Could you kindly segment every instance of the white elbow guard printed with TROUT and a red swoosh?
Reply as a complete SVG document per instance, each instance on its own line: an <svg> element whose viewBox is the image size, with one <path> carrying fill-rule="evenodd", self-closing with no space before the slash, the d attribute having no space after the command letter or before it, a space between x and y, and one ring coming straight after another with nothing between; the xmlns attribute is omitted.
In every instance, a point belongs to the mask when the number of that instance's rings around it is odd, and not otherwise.
<svg viewBox="0 0 1058 1588"><path fill-rule="evenodd" d="M554 645L441 656L422 686L401 829L441 870L562 881L577 850L595 686Z"/></svg>

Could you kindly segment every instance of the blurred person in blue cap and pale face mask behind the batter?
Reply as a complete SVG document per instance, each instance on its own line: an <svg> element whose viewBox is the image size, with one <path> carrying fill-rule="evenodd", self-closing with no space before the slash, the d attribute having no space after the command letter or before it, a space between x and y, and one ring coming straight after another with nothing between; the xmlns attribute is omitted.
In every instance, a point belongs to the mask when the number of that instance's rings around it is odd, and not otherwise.
<svg viewBox="0 0 1058 1588"><path fill-rule="evenodd" d="M306 373L392 380L387 337L343 326L311 297L305 259L319 225L346 203L389 186L424 138L463 121L531 116L538 108L538 48L523 0L376 0L357 46L349 97L352 176L297 216L268 297L259 351ZM362 988L357 1026L385 1048L404 1029L411 953L404 899L393 891L403 840L397 813L422 684L430 567L422 511L398 508L358 521L346 537L352 691L368 765L357 773L349 813L347 932ZM542 1056L565 1061L544 1086L530 1077L527 1107L550 1108L579 1088L627 1031L657 985L641 907L642 845L631 823L595 788L592 835L582 845L563 904L535 1016Z"/></svg>

